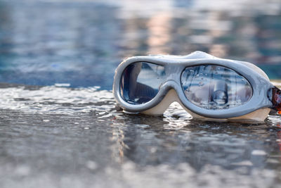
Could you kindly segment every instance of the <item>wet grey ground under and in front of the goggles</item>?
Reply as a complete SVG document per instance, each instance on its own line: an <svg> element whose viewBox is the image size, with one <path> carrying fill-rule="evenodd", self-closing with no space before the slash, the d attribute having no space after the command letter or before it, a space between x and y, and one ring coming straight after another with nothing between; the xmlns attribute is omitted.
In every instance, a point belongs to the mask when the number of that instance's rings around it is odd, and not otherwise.
<svg viewBox="0 0 281 188"><path fill-rule="evenodd" d="M280 184L280 115L215 123L193 120L178 104L159 117L126 115L96 88L0 92L1 187Z"/></svg>

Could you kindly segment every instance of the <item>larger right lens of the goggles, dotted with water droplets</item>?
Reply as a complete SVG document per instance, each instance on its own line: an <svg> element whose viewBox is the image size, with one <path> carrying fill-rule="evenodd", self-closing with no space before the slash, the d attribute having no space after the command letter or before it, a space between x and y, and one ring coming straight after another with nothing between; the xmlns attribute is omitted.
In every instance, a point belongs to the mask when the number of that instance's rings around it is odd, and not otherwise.
<svg viewBox="0 0 281 188"><path fill-rule="evenodd" d="M252 96L248 80L230 68L197 65L185 68L181 85L188 101L206 109L240 106Z"/></svg>

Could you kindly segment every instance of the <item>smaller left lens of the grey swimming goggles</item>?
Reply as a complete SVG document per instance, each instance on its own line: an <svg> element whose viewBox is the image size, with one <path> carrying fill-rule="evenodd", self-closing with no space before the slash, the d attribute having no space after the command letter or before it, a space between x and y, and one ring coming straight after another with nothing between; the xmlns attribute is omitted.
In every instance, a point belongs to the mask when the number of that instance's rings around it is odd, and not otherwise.
<svg viewBox="0 0 281 188"><path fill-rule="evenodd" d="M137 62L128 65L120 80L120 94L129 104L143 104L153 99L165 78L162 65Z"/></svg>

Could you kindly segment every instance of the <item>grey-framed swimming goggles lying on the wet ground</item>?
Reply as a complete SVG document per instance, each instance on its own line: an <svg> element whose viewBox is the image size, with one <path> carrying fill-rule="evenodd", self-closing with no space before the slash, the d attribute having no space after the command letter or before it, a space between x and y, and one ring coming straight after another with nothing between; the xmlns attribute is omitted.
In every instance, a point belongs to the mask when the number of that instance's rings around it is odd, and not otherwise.
<svg viewBox="0 0 281 188"><path fill-rule="evenodd" d="M280 89L256 65L202 51L127 58L115 71L113 93L127 113L159 115L173 101L207 118L233 118L261 108L281 111Z"/></svg>

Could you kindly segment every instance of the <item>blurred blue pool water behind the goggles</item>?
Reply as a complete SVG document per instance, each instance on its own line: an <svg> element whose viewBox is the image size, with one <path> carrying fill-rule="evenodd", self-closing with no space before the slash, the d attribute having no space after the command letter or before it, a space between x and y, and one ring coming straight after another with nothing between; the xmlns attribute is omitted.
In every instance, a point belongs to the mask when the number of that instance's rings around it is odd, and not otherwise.
<svg viewBox="0 0 281 188"><path fill-rule="evenodd" d="M2 0L0 82L111 89L115 68L128 56L196 50L281 77L279 1L158 4Z"/></svg>

